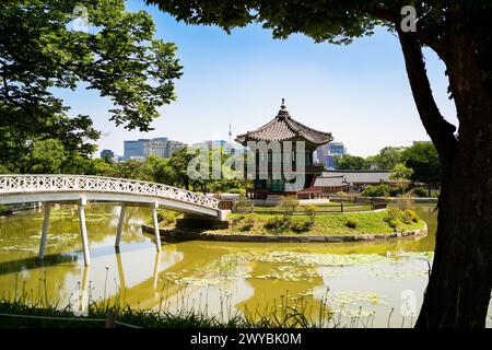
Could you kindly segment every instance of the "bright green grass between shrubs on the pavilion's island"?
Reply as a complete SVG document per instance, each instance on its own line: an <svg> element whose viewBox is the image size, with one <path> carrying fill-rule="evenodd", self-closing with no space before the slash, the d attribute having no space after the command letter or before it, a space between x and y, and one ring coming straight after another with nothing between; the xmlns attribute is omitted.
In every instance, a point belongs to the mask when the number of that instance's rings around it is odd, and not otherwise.
<svg viewBox="0 0 492 350"><path fill-rule="evenodd" d="M350 214L327 214L316 215L314 224L311 229L303 233L295 233L292 230L268 231L265 229L265 224L271 218L283 218L281 215L261 214L250 215L245 214L244 221L249 218L249 225L247 230L243 230L239 221L235 225L231 225L227 230L210 230L209 233L216 234L300 234L300 235L337 235L337 234L390 234L395 231L409 231L422 229L425 224L424 221L418 220L417 222L403 222L402 220L396 220L397 229L391 228L387 220L387 211L371 212L371 213L350 213ZM229 220L233 218L242 217L241 214L230 214ZM237 220L237 219L236 219ZM306 222L309 220L308 215L290 215L288 220L292 222ZM349 228L348 221L356 223L355 228ZM251 224L251 222L254 224Z"/></svg>

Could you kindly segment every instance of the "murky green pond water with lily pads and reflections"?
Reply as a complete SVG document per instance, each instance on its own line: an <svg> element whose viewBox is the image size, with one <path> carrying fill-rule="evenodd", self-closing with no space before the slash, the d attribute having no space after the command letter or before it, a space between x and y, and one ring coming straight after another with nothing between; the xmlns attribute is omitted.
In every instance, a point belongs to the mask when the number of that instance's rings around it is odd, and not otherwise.
<svg viewBox="0 0 492 350"><path fill-rule="evenodd" d="M84 312L89 300L133 307L195 308L227 317L281 305L320 311L351 326L410 327L427 283L435 242L434 206L418 206L424 237L371 243L273 244L163 242L155 249L141 224L145 208L127 210L120 252L114 248L119 207L91 205L86 224L91 267L84 267L74 206L51 210L44 262L36 259L42 211L0 218L0 293L56 301ZM492 315L492 313L489 313ZM491 325L489 316L488 325Z"/></svg>

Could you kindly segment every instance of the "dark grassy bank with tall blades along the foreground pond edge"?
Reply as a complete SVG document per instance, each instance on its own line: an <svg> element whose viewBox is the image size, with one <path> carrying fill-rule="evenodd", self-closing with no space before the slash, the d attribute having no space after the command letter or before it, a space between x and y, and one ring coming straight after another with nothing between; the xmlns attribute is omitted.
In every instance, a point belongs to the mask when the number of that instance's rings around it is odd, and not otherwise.
<svg viewBox="0 0 492 350"><path fill-rule="evenodd" d="M223 301L222 301L223 303ZM179 311L140 310L119 303L92 302L84 315L72 306L60 307L58 303L39 301L30 303L24 299L0 300L0 328L326 328L340 327L340 318L332 318L326 303L321 303L316 317L309 316L303 301L276 303L261 314L232 312L224 305L218 315L206 310ZM371 320L367 319L367 324Z"/></svg>

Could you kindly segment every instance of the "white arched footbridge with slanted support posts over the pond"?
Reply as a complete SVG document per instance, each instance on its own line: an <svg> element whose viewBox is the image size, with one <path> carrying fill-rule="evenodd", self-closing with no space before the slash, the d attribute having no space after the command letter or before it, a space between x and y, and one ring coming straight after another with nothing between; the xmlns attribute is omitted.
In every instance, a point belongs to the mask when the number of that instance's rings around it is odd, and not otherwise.
<svg viewBox="0 0 492 350"><path fill-rule="evenodd" d="M220 200L216 198L163 184L85 175L0 175L0 205L28 202L45 203L39 245L40 259L45 255L51 205L77 203L79 206L85 265L91 264L84 210L87 202L119 202L121 205L116 247L119 247L126 207L151 207L157 250L161 250L157 208L206 215L218 220L225 220L229 213L229 210L220 209Z"/></svg>

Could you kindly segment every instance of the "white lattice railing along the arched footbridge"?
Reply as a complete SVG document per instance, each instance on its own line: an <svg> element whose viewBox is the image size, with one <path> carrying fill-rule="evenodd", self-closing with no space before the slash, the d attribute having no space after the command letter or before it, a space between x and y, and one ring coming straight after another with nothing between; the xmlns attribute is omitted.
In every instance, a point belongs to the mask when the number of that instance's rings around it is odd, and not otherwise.
<svg viewBox="0 0 492 350"><path fill-rule="evenodd" d="M220 200L186 189L136 179L89 175L0 175L1 194L92 191L154 196L219 209Z"/></svg>

